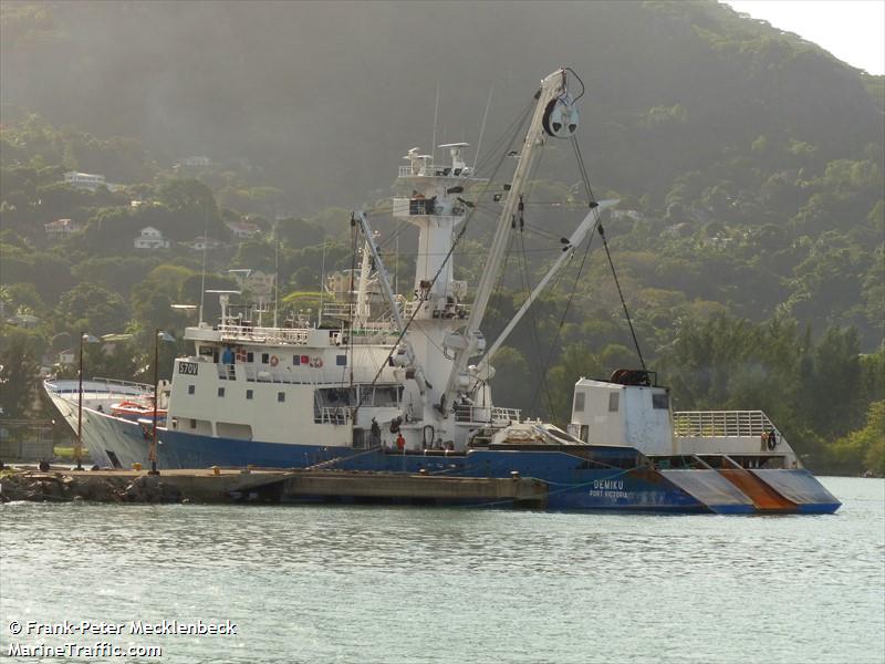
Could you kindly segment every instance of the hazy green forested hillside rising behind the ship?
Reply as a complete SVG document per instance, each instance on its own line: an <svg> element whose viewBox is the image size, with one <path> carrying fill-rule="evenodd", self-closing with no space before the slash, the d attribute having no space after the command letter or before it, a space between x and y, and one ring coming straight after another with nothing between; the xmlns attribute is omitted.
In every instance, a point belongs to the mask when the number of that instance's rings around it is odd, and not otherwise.
<svg viewBox="0 0 885 664"><path fill-rule="evenodd" d="M350 214L329 205L387 198L387 166L433 122L436 81L402 82L439 71L433 58L445 53L439 85L457 108L444 104L444 124L469 127L489 82L496 108L520 108L560 61L558 44L570 43L582 44L572 65L587 84L579 135L593 186L597 198L621 199L604 219L614 266L645 362L673 387L674 405L762 408L813 467L882 474L883 77L714 2L511 9L507 43L480 38L500 32L502 12L479 4L469 24L457 19L466 45L452 53L445 30L405 28L450 24L458 12L444 6L347 6L350 20L333 21L335 45L313 29L334 6L186 3L174 20L152 3L0 7L2 416L46 407L35 397L39 369L76 350L81 331L131 335L88 346L87 373L149 375L154 329L192 322L171 305L200 301L202 252L186 242L201 236L220 242L207 251L207 288L233 287L229 269L277 269L283 305L315 312L322 267L356 260ZM207 24L227 25L231 39L209 39ZM368 44L363 30L374 35ZM348 56L356 43L360 56ZM496 61L512 69L502 73ZM166 89L152 87L159 80ZM260 81L273 83L258 90ZM491 115L488 145L498 136L503 145L513 114ZM176 164L187 154L212 158ZM493 160L489 149L480 165ZM543 163L491 300L488 338L583 215L568 144L550 145ZM76 189L63 184L71 169L124 187ZM483 175L493 188L502 173L492 165ZM457 278L473 284L499 209L490 194L475 194L456 252ZM80 230L52 239L44 225L56 219ZM238 224L260 232L238 238ZM389 271L408 282L414 231L377 210L373 224ZM170 247L136 251L147 226ZM638 363L598 237L585 258L575 257L496 356L499 403L568 421L579 377ZM22 322L29 315L35 325ZM206 318L216 315L207 300ZM162 376L181 351L180 342L162 349Z"/></svg>

